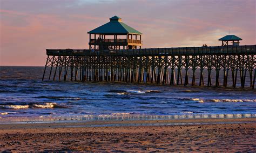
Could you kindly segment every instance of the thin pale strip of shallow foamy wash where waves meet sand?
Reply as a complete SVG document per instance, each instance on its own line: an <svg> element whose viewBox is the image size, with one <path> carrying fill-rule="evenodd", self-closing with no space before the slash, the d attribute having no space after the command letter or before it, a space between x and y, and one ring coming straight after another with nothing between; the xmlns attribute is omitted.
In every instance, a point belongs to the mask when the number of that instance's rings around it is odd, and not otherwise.
<svg viewBox="0 0 256 153"><path fill-rule="evenodd" d="M251 119L256 118L255 113L235 113L235 114L172 114L172 115L146 115L130 113L113 113L103 115L49 115L49 116L0 116L0 124L10 122L87 122L87 121L149 121L149 120L207 120L207 119Z"/></svg>

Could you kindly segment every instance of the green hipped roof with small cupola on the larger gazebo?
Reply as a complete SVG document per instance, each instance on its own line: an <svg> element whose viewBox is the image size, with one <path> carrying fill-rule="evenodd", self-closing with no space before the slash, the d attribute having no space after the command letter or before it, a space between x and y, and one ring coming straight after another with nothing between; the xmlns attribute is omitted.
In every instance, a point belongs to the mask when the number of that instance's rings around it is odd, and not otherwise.
<svg viewBox="0 0 256 153"><path fill-rule="evenodd" d="M139 31L134 28L126 25L122 22L122 19L118 16L110 18L110 22L102 26L95 28L92 31L87 33L90 34L139 34L142 35Z"/></svg>

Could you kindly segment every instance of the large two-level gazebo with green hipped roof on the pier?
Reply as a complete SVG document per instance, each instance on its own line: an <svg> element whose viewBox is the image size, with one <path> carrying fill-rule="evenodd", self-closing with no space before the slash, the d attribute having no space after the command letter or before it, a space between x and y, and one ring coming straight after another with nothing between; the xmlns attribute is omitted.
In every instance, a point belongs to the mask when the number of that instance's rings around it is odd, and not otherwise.
<svg viewBox="0 0 256 153"><path fill-rule="evenodd" d="M90 49L116 50L142 47L142 33L123 23L117 16L110 18L109 23L87 33L90 35Z"/></svg>

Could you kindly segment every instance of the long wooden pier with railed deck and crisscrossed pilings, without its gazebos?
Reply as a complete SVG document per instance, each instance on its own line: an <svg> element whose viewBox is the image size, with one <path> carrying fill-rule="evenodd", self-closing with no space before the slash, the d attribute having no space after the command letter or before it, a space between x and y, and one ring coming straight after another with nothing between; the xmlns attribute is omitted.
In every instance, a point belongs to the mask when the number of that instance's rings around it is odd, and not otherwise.
<svg viewBox="0 0 256 153"><path fill-rule="evenodd" d="M83 82L221 85L235 88L240 77L241 88L245 88L246 79L250 82L250 88L254 89L255 84L256 45L119 50L46 49L46 54L48 57L42 79L46 79L48 72L49 81L66 81L69 78ZM198 82L196 71L199 71ZM228 78L232 79L230 84Z"/></svg>

